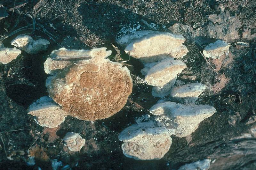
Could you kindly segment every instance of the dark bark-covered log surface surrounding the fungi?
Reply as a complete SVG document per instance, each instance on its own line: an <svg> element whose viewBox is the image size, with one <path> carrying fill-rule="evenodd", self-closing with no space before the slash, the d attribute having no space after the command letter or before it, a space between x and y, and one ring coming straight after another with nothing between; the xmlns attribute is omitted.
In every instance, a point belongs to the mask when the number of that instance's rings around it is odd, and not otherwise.
<svg viewBox="0 0 256 170"><path fill-rule="evenodd" d="M37 125L26 110L34 101L48 95L45 87L48 75L44 73L43 63L53 49L107 47L112 50L111 58L114 60L114 44L126 59L128 56L122 52L124 48L116 43L116 38L128 30L148 29L141 19L154 23L159 31L170 32L168 28L174 23L196 25L198 28L207 24L205 15L216 13L214 7L220 3L231 15L238 16L242 28L247 26L251 33L256 32L256 2L251 0L0 1L9 13L8 17L0 20L0 34L10 34L15 29L30 25L20 33L51 42L46 51L36 55L22 52L11 63L0 65L0 169L51 169L51 160L57 159L62 162L61 167L68 165L72 169L171 170L205 158L215 160L211 169L255 169L256 145L248 149L251 145L241 144L248 141L256 144L256 135L244 136L256 126L255 122L246 123L256 108L255 39L234 40L227 56L220 60L208 59L218 73L200 55L200 47L185 41L189 53L182 60L188 68L180 77L194 75L196 80L182 81L207 85L198 103L211 105L217 112L201 122L192 135L183 138L171 136L171 148L161 160L126 158L122 153L122 142L117 137L122 129L135 122L134 118L149 114L148 109L159 99L151 96L152 86L141 81L140 69L143 66L136 59L127 62L133 78L133 92L126 106L112 117L95 122L67 117L60 126L46 129L38 138L44 128ZM35 30L29 16L35 18ZM4 39L3 44L12 47L10 41L17 35ZM236 41L248 42L250 46L236 48ZM22 130L12 131L17 129ZM79 133L86 140L80 152L70 152L62 142L70 131ZM247 150L250 152L245 152ZM33 166L26 163L29 155L35 157Z"/></svg>

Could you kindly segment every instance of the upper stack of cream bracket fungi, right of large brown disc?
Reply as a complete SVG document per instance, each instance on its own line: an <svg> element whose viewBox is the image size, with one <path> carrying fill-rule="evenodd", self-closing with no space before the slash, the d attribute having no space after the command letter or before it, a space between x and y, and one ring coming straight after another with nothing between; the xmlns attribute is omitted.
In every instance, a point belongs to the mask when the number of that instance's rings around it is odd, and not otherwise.
<svg viewBox="0 0 256 170"><path fill-rule="evenodd" d="M124 35L117 43L126 46L124 51L144 64L141 73L148 85L153 85L152 95L164 97L170 93L177 75L187 68L182 61L174 60L188 53L185 40L182 35L144 30Z"/></svg>

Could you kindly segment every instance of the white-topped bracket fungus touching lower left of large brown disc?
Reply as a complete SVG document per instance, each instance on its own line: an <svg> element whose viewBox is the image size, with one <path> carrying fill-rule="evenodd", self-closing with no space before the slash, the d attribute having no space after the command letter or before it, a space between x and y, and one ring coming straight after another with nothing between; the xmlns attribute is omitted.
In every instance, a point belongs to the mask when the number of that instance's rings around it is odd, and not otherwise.
<svg viewBox="0 0 256 170"><path fill-rule="evenodd" d="M34 120L37 124L49 128L58 127L68 116L68 113L48 96L41 97L31 104L28 114L35 116Z"/></svg>

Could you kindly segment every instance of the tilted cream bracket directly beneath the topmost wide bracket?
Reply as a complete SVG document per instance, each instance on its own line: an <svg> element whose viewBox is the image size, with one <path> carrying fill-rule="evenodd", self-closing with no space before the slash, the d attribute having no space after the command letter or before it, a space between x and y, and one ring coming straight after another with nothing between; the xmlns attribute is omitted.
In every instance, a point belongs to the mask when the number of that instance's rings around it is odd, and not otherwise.
<svg viewBox="0 0 256 170"><path fill-rule="evenodd" d="M185 68L187 68L186 64L180 60L160 62L148 70L145 81L149 85L163 87Z"/></svg>

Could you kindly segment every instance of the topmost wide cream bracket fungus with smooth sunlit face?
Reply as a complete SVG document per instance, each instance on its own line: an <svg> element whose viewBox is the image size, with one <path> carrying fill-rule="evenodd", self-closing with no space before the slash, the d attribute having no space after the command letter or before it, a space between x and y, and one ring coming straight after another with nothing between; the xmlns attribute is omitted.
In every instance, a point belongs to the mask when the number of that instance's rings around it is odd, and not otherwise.
<svg viewBox="0 0 256 170"><path fill-rule="evenodd" d="M182 45L184 41L182 35L154 32L133 40L124 51L143 63L157 62L166 57L186 55L188 49Z"/></svg>

